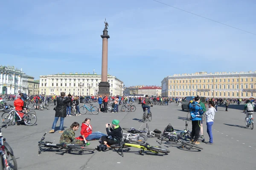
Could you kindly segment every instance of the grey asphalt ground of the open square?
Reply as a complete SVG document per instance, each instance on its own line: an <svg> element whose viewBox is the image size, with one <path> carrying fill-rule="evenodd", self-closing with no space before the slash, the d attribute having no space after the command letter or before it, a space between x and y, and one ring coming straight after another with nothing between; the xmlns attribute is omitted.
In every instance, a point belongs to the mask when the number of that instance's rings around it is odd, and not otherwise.
<svg viewBox="0 0 256 170"><path fill-rule="evenodd" d="M12 104L13 102L7 102ZM80 104L81 105L81 104ZM98 106L98 104L94 104ZM84 121L85 118L91 118L93 131L106 133L105 124L111 123L113 119L120 120L121 127L135 127L143 129L146 123L141 122L142 108L136 105L135 112L119 113L99 113L98 115L86 114L82 116L66 117L64 127L67 129L73 122ZM236 108L235 106L233 108ZM241 109L241 108L240 108ZM153 119L147 122L149 129L159 129L161 131L171 123L175 130L183 130L187 111L181 111L181 108L174 103L168 106L154 105L151 108ZM3 113L3 112L2 112ZM45 141L58 143L61 134L48 133L51 130L52 122L55 116L53 106L48 111L36 111L38 121L35 126L14 125L2 129L6 141L12 147L17 159L19 170L98 170L98 169L122 169L122 170L155 170L155 169L197 169L197 170L246 170L255 169L256 136L255 130L245 127L245 114L239 109L218 107L215 114L215 122L212 126L213 142L212 145L200 143L203 150L180 149L180 144L173 142L163 143L163 148L171 152L166 155L140 155L140 149L129 147L125 149L124 157L120 156L116 150L107 150L105 152L85 151L82 154L65 153L64 150L44 151L38 156L38 141L40 141L44 132L47 132ZM58 129L59 121L56 129ZM209 141L207 135L206 121L204 122L204 136L206 142ZM192 129L189 122L189 129ZM76 131L76 136L80 135L80 129ZM152 146L159 146L157 138L148 138L146 141ZM88 147L95 148L99 145L98 141L90 141Z"/></svg>

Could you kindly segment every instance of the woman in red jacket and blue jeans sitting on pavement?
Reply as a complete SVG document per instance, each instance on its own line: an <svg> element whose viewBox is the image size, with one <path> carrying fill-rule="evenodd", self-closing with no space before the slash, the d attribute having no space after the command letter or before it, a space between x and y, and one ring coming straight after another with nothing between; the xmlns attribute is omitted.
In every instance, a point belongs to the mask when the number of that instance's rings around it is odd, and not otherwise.
<svg viewBox="0 0 256 170"><path fill-rule="evenodd" d="M86 118L81 125L81 136L76 139L90 141L93 139L100 139L102 136L107 136L101 132L93 132L93 127L90 125L90 118Z"/></svg>

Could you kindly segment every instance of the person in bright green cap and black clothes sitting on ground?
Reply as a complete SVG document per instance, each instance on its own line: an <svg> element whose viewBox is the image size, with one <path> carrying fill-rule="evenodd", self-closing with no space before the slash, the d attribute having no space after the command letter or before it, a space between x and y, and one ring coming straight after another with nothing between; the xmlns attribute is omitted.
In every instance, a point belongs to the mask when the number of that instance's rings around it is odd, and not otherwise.
<svg viewBox="0 0 256 170"><path fill-rule="evenodd" d="M103 144L106 144L108 147L112 144L120 144L122 138L122 128L119 126L119 120L114 119L112 121L112 125L107 123L106 131L108 136L102 136Z"/></svg>

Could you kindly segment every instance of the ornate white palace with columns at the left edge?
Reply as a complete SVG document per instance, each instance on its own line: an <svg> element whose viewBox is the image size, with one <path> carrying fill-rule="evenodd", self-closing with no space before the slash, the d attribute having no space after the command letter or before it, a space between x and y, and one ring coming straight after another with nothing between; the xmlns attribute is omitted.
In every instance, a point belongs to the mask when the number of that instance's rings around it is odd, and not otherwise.
<svg viewBox="0 0 256 170"><path fill-rule="evenodd" d="M0 66L0 94L28 94L28 76L14 66Z"/></svg>

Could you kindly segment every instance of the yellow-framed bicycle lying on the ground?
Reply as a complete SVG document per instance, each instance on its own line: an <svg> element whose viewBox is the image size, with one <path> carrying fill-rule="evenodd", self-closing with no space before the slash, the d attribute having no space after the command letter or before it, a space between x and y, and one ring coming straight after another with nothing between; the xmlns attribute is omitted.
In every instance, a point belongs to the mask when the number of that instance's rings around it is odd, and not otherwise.
<svg viewBox="0 0 256 170"><path fill-rule="evenodd" d="M111 148L119 148L121 150L121 156L124 156L123 153L123 148L124 147L137 147L140 149L140 155L142 155L142 153L146 153L146 151L155 153L155 154L159 154L159 153L170 153L170 150L162 148L160 146L150 146L150 144L146 143L146 144L130 144L130 143L125 143L123 142L123 140L121 139L120 144L112 144L110 146Z"/></svg>

